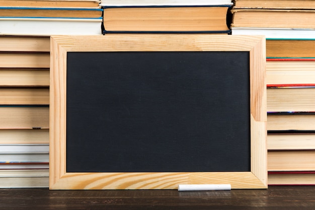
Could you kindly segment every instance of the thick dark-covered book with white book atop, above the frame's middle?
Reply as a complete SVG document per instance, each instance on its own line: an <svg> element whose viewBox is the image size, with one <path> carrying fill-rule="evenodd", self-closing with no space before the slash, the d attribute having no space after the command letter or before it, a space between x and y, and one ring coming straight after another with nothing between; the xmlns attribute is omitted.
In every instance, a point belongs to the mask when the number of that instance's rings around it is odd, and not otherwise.
<svg viewBox="0 0 315 210"><path fill-rule="evenodd" d="M101 0L101 6L103 34L230 33L231 0Z"/></svg>

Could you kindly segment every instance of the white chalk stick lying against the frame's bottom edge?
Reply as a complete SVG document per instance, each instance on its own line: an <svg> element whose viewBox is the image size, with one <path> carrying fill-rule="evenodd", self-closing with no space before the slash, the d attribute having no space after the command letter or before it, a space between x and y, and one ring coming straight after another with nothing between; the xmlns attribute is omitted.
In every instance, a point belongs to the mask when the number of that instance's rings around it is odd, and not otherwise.
<svg viewBox="0 0 315 210"><path fill-rule="evenodd" d="M178 191L230 190L230 184L179 184Z"/></svg>

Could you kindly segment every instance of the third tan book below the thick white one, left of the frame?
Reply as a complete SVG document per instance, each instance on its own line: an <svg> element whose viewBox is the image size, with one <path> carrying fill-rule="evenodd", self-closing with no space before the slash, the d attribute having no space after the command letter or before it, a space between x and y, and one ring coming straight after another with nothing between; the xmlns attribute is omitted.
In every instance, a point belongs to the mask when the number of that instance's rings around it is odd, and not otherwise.
<svg viewBox="0 0 315 210"><path fill-rule="evenodd" d="M49 87L49 68L0 67L0 87Z"/></svg>

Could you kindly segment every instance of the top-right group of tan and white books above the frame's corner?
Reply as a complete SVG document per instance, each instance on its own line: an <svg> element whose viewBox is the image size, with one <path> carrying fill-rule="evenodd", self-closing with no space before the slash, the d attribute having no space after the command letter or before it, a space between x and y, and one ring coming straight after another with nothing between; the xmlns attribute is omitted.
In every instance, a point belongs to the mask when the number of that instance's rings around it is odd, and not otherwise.
<svg viewBox="0 0 315 210"><path fill-rule="evenodd" d="M312 0L234 0L232 34L265 34L266 38L312 38L315 35Z"/></svg>

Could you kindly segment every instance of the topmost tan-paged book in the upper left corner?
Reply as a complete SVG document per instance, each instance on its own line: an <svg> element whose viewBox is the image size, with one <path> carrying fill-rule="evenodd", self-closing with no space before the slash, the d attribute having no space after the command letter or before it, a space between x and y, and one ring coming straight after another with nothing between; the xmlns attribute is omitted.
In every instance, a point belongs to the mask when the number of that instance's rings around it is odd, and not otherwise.
<svg viewBox="0 0 315 210"><path fill-rule="evenodd" d="M100 0L0 0L2 7L100 8Z"/></svg>

